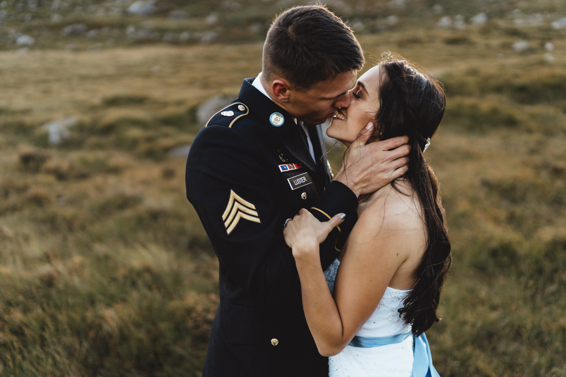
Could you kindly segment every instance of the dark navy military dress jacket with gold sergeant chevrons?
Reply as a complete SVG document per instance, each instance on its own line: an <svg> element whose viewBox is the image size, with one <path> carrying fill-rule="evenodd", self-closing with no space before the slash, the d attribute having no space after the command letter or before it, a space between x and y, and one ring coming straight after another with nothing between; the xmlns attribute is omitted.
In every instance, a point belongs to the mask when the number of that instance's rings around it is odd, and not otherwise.
<svg viewBox="0 0 566 377"><path fill-rule="evenodd" d="M301 208L346 221L320 245L325 269L353 227L358 200L333 181L320 126L300 125L251 85L200 130L187 158L187 198L220 262L220 305L205 377L328 376L305 320L283 225Z"/></svg>

